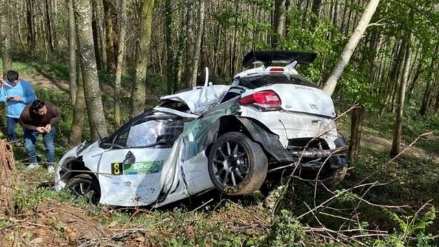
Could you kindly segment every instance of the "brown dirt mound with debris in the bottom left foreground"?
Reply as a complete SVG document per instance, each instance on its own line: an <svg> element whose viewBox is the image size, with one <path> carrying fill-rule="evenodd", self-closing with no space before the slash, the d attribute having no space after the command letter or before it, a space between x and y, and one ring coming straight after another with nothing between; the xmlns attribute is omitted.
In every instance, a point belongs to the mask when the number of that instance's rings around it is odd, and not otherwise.
<svg viewBox="0 0 439 247"><path fill-rule="evenodd" d="M117 246L115 240L124 235L129 235L124 246L144 246L135 230L110 229L111 224L102 226L97 216L51 199L14 219L0 219L10 221L0 228L0 246Z"/></svg>

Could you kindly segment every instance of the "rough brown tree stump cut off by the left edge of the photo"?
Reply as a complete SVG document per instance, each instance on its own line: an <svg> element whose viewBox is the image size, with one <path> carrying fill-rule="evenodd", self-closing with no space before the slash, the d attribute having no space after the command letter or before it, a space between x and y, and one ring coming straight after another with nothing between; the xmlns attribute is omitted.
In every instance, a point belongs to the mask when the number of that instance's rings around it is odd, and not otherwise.
<svg viewBox="0 0 439 247"><path fill-rule="evenodd" d="M14 171L12 146L0 139L0 215L14 214Z"/></svg>

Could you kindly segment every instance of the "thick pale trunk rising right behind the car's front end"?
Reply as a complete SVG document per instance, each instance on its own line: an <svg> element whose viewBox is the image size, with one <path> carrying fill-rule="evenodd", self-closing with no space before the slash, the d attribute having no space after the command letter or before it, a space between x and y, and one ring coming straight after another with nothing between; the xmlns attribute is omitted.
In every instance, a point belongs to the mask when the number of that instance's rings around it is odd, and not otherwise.
<svg viewBox="0 0 439 247"><path fill-rule="evenodd" d="M99 88L98 69L93 50L93 31L91 30L91 3L89 0L75 0L76 34L78 35L78 52L80 67L84 82L85 102L89 116L90 133L92 140L100 136L108 136L104 107L102 106Z"/></svg>

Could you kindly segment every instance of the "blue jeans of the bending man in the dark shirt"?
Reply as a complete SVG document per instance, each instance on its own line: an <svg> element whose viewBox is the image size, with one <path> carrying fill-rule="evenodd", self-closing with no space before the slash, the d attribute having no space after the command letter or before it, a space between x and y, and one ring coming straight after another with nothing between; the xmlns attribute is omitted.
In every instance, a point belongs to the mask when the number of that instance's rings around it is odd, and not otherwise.
<svg viewBox="0 0 439 247"><path fill-rule="evenodd" d="M29 155L30 163L37 163L36 153L35 153L35 142L39 134L43 135L44 147L46 148L47 163L54 164L55 160L55 127L52 127L49 133L40 133L38 131L25 129L25 149L27 150L27 155Z"/></svg>

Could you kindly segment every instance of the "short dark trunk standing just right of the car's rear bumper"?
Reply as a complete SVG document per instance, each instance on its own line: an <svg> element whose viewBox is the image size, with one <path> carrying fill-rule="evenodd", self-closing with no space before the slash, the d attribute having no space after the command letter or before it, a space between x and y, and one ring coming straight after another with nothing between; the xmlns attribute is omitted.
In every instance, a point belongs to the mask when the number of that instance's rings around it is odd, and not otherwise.
<svg viewBox="0 0 439 247"><path fill-rule="evenodd" d="M354 166L355 158L360 150L361 141L361 127L364 119L364 107L360 106L352 109L351 123L350 123L350 153L349 162L350 166Z"/></svg>

